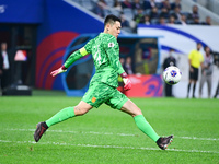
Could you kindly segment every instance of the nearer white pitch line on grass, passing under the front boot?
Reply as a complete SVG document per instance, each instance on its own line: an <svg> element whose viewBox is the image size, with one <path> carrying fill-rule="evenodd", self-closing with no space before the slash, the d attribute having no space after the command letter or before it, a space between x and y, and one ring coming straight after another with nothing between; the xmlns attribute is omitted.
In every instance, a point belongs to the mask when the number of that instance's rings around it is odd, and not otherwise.
<svg viewBox="0 0 219 164"><path fill-rule="evenodd" d="M18 144L25 144L25 143L32 143L32 144L54 144L54 145L68 145L68 147L87 147L87 148L104 148L104 149L132 149L132 150L160 150L155 148L135 148L135 147L120 147L120 145L95 145L95 144L72 144L72 143L66 143L66 142L34 142L34 141L8 141L8 140L0 140L2 143L18 143ZM219 154L219 152L216 151L201 151L201 150L180 150L180 149L168 149L166 151L172 152L188 152L188 153L214 153Z"/></svg>

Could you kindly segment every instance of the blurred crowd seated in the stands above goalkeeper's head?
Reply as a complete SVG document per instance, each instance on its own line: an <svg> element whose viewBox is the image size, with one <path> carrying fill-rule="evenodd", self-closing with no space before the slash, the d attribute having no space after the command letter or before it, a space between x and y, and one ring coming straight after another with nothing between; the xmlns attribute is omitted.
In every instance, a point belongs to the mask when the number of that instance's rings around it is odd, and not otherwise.
<svg viewBox="0 0 219 164"><path fill-rule="evenodd" d="M108 13L116 14L122 19L123 27L134 32L139 23L211 25L210 16L200 20L197 5L193 5L191 12L182 11L181 0L97 0L92 11L101 17Z"/></svg>

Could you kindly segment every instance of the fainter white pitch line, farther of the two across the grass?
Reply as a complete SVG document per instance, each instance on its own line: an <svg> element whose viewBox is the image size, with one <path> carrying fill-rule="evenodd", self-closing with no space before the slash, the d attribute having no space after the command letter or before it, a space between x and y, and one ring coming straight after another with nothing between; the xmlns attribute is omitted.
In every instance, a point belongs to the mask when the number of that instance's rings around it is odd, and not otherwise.
<svg viewBox="0 0 219 164"><path fill-rule="evenodd" d="M35 131L35 129L4 129L9 131ZM103 136L130 136L135 137L137 134L132 133L113 133L113 132L95 132L95 131L64 131L64 130L47 130L50 132L60 132L60 133L82 133L82 134L103 134ZM177 137L174 138L186 139L186 140L206 140L206 141L219 141L217 138L197 138L197 137Z"/></svg>

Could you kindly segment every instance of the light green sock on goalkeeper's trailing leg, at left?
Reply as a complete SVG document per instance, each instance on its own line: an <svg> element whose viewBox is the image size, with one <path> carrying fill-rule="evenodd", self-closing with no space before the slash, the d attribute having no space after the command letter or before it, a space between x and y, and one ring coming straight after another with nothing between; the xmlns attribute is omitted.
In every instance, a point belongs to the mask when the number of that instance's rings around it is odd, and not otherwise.
<svg viewBox="0 0 219 164"><path fill-rule="evenodd" d="M50 127L50 126L53 126L57 122L64 121L64 120L71 118L73 116L76 116L73 107L67 107L67 108L64 108L62 110L58 112L56 115L54 115L48 120L46 120L46 125L48 127Z"/></svg>

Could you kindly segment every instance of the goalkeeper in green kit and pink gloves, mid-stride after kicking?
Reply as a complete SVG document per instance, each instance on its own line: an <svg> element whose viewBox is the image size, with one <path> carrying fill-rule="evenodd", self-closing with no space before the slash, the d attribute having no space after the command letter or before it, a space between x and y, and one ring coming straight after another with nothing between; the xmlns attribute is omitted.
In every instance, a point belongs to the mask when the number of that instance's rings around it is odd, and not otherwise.
<svg viewBox="0 0 219 164"><path fill-rule="evenodd" d="M34 139L36 142L43 133L53 125L61 122L68 118L81 116L93 107L99 107L105 103L112 108L122 110L134 117L137 127L151 138L160 149L165 150L173 139L173 136L160 137L143 117L140 108L138 108L127 96L117 90L118 74L123 78L124 89L131 89L131 82L128 79L119 62L119 46L117 43L120 33L120 20L115 15L107 15L104 21L104 32L100 33L95 38L87 43L79 50L71 54L62 67L53 71L53 77L67 71L74 61L81 57L92 54L96 72L93 75L88 92L82 101L72 107L61 109L46 121L37 124Z"/></svg>

